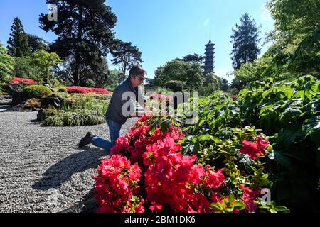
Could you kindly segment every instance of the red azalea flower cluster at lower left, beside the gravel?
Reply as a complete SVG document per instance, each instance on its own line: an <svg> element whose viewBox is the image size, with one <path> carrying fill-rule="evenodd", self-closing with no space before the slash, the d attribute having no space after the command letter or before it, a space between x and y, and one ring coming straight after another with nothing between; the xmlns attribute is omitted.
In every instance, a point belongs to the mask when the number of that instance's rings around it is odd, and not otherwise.
<svg viewBox="0 0 320 227"><path fill-rule="evenodd" d="M95 200L100 208L97 212L129 213L144 212L144 200L134 196L139 189L141 170L137 163L121 155L102 160L95 176Z"/></svg>

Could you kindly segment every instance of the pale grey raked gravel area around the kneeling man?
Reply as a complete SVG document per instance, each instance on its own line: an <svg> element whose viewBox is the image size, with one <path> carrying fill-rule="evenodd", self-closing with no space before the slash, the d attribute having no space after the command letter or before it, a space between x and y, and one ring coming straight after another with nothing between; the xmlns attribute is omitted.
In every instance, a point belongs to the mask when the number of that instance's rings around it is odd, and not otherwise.
<svg viewBox="0 0 320 227"><path fill-rule="evenodd" d="M58 212L90 198L92 175L108 157L93 145L77 148L87 131L109 139L107 124L41 127L36 114L0 106L0 212Z"/></svg>

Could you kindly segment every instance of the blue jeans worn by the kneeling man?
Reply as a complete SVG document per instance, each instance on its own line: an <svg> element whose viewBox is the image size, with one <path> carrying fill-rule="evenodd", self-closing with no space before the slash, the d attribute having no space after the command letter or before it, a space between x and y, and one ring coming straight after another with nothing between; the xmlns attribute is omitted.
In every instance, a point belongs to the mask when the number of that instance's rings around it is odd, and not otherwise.
<svg viewBox="0 0 320 227"><path fill-rule="evenodd" d="M92 144L95 145L98 148L103 148L107 150L109 153L111 148L113 148L116 145L116 140L121 136L121 126L119 123L115 123L114 121L107 120L107 125L109 126L109 132L110 132L110 140L104 140L99 137L94 137L92 139Z"/></svg>

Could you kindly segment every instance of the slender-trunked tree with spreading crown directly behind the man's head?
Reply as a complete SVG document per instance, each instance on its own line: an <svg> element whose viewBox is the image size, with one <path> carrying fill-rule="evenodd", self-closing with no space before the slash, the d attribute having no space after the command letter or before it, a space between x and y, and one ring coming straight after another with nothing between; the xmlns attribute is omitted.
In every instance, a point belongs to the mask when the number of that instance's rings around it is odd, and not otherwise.
<svg viewBox="0 0 320 227"><path fill-rule="evenodd" d="M126 78L126 72L134 65L141 65L142 52L132 43L117 40L117 48L112 53L114 57L111 61L114 65L120 65L122 71L122 80Z"/></svg>

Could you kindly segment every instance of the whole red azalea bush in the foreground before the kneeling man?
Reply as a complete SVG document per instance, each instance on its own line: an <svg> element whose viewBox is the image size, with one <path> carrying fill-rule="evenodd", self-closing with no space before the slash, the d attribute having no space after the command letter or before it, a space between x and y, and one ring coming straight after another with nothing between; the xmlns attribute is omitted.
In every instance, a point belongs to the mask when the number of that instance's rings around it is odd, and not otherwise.
<svg viewBox="0 0 320 227"><path fill-rule="evenodd" d="M180 153L184 135L179 128L154 126L153 121L151 116L139 118L131 131L117 139L111 158L102 161L95 176L98 212L257 210L260 187L241 185L235 198L228 192L227 170L196 164L195 155ZM269 142L262 135L255 144L250 157L265 154Z"/></svg>

